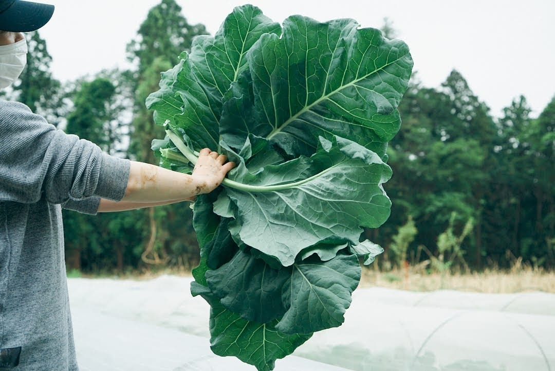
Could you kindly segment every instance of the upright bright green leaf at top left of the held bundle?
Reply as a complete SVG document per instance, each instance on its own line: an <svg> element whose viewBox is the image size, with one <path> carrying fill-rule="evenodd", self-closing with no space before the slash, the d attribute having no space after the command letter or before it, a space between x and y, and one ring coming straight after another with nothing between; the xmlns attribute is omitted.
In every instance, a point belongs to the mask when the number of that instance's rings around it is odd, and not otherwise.
<svg viewBox="0 0 555 371"><path fill-rule="evenodd" d="M147 99L155 122L185 129L195 149L219 148L224 94L246 67L245 54L256 40L280 31L279 23L259 8L235 8L214 37L196 37L191 52L182 53L181 62L162 74L160 90Z"/></svg>

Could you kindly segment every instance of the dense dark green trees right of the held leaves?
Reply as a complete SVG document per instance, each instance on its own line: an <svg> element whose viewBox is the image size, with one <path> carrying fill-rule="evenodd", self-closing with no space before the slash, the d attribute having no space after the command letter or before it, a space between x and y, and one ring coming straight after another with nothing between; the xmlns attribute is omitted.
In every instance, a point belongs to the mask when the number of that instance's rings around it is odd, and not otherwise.
<svg viewBox="0 0 555 371"><path fill-rule="evenodd" d="M388 149L391 218L369 233L387 247L412 215L418 234L408 256L415 262L419 246L437 255L437 237L455 212L457 234L474 220L462 243L471 268L508 267L516 257L554 267L553 107L534 119L519 97L494 120L456 71L440 90L412 84Z"/></svg>

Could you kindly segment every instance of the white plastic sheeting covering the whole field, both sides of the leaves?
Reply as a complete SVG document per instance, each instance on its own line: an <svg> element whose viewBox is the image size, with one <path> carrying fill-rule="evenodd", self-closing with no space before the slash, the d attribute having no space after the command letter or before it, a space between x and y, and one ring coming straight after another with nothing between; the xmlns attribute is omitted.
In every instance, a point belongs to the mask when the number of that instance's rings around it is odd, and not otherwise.
<svg viewBox="0 0 555 371"><path fill-rule="evenodd" d="M209 306L191 297L190 281L70 279L82 370L254 371L210 352ZM276 362L297 369L555 370L555 294L359 288L341 327Z"/></svg>

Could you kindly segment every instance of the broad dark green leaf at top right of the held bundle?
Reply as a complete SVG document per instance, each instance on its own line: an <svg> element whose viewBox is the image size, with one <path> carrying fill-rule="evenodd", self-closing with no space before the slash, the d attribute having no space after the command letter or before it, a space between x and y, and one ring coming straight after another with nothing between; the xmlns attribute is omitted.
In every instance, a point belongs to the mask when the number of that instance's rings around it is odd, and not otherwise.
<svg viewBox="0 0 555 371"><path fill-rule="evenodd" d="M261 36L248 54L250 79L238 81L224 104L225 115L242 117L249 106L254 114L221 127L225 141L254 133L298 156L314 153L318 137L336 135L383 156L400 127L412 58L405 43L358 27L352 19L292 16L281 37Z"/></svg>

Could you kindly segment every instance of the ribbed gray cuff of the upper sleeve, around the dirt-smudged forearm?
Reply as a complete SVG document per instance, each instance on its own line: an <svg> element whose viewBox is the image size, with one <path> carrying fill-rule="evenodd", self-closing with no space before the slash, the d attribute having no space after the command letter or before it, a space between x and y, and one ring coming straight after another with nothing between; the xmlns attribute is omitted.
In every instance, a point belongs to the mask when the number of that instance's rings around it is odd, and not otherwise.
<svg viewBox="0 0 555 371"><path fill-rule="evenodd" d="M130 167L129 160L103 153L98 185L94 195L112 201L121 200L127 189Z"/></svg>

